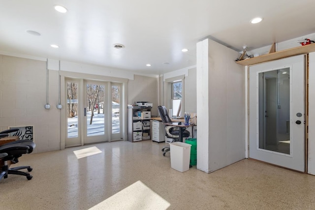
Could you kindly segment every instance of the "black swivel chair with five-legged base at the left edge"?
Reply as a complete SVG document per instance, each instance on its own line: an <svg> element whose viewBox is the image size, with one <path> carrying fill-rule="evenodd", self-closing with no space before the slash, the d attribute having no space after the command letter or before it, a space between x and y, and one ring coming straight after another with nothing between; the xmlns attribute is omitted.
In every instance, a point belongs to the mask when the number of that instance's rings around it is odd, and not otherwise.
<svg viewBox="0 0 315 210"><path fill-rule="evenodd" d="M29 172L32 171L31 166L18 166L14 168L9 168L10 164L15 164L19 162L19 157L23 154L31 153L35 149L36 145L31 140L18 140L14 142L10 142L0 146L0 153L6 153L6 156L3 156L1 161L1 171L0 171L0 179L2 177L6 179L8 174L22 175L26 176L28 180L32 179L32 176L23 171L19 171L21 169L27 169Z"/></svg>

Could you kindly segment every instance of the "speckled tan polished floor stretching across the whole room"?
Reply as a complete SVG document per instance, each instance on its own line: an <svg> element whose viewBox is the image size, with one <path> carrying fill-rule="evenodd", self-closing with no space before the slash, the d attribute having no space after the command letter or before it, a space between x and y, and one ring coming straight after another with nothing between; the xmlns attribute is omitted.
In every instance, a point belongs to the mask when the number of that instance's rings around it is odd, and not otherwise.
<svg viewBox="0 0 315 210"><path fill-rule="evenodd" d="M31 165L33 179L0 180L0 209L315 208L315 176L248 159L211 174L195 166L181 173L170 167L163 146L119 141L24 155L12 167ZM78 159L75 150L96 154Z"/></svg>

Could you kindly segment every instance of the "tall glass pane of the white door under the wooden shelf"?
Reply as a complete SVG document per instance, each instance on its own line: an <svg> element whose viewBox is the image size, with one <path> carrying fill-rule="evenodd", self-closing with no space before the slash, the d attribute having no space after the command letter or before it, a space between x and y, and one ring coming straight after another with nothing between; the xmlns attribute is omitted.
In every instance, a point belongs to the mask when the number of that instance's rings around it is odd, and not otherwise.
<svg viewBox="0 0 315 210"><path fill-rule="evenodd" d="M289 68L259 73L259 148L290 154Z"/></svg>

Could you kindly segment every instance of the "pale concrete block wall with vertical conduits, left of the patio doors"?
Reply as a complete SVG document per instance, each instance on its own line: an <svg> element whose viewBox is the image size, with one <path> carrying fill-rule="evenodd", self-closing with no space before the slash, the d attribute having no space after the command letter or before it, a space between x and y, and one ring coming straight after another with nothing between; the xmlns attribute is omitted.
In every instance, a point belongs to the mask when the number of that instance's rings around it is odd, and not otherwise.
<svg viewBox="0 0 315 210"><path fill-rule="evenodd" d="M46 104L46 61L0 55L0 130L33 126L34 152L60 150L58 71L49 71Z"/></svg>

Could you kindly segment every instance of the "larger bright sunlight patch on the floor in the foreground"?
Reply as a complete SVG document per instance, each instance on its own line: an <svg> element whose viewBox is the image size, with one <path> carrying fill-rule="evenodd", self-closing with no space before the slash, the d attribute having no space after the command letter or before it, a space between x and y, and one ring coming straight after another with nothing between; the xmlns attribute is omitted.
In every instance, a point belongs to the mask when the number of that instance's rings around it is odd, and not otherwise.
<svg viewBox="0 0 315 210"><path fill-rule="evenodd" d="M90 210L166 210L168 207L170 203L139 180Z"/></svg>

